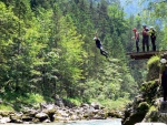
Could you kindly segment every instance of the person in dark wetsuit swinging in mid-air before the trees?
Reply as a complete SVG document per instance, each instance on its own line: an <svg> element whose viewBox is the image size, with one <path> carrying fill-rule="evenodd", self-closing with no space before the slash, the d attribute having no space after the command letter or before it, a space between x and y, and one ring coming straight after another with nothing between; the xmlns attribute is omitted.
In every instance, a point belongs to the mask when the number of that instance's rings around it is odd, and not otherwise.
<svg viewBox="0 0 167 125"><path fill-rule="evenodd" d="M106 52L106 51L102 49L101 41L99 40L97 33L95 34L94 40L96 41L96 46L97 46L98 49L100 49L100 53L101 53L102 55L105 55L106 58L108 58L108 52Z"/></svg>

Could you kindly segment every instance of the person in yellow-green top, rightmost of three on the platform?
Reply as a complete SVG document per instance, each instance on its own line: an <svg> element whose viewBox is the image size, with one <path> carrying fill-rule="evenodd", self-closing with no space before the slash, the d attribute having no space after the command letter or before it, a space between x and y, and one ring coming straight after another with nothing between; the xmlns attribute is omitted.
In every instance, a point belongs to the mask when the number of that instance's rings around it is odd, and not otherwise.
<svg viewBox="0 0 167 125"><path fill-rule="evenodd" d="M154 27L150 27L148 32L153 44L153 51L156 51L156 30L154 29Z"/></svg>

